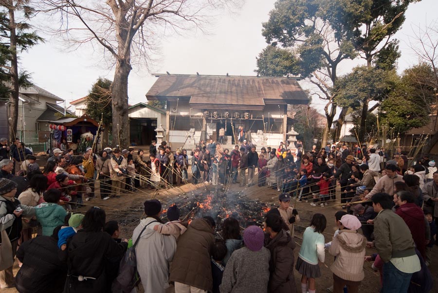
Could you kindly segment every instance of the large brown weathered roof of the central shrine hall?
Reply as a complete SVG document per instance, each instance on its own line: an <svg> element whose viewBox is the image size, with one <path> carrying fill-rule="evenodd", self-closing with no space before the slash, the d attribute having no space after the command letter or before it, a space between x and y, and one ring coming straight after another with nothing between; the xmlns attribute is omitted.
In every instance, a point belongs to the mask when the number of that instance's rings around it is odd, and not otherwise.
<svg viewBox="0 0 438 293"><path fill-rule="evenodd" d="M295 78L154 74L148 100L187 99L192 108L262 110L266 104L307 104L309 97Z"/></svg>

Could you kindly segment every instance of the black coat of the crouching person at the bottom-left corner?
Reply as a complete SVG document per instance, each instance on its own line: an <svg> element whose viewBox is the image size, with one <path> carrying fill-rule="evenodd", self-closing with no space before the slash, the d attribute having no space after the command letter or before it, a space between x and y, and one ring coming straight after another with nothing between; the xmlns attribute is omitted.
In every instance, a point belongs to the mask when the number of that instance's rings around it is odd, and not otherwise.
<svg viewBox="0 0 438 293"><path fill-rule="evenodd" d="M15 286L20 293L61 293L64 290L67 264L58 258L55 238L38 236L23 242L17 258L23 263Z"/></svg>

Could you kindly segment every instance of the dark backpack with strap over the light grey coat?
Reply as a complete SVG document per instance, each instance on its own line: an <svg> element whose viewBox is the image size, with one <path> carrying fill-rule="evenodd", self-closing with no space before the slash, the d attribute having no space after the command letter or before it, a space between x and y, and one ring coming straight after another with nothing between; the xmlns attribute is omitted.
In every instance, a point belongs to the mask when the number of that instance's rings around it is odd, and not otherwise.
<svg viewBox="0 0 438 293"><path fill-rule="evenodd" d="M128 248L125 257L120 261L119 275L112 282L111 291L113 293L130 293L132 289L138 287L140 283L140 276L137 271L137 255L135 253L135 247L140 240L143 232L145 232L146 227L152 223L158 223L158 221L152 221L148 223L142 232L138 235L135 243L132 247Z"/></svg>

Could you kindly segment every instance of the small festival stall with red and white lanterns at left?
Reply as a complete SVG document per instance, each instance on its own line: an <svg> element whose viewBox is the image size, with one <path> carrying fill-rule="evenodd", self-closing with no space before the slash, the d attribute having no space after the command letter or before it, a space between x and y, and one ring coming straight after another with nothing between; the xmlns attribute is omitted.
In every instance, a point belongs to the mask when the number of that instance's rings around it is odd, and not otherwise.
<svg viewBox="0 0 438 293"><path fill-rule="evenodd" d="M52 149L60 147L62 140L66 140L66 148L80 153L93 146L93 138L97 135L97 144L100 143L100 134L104 125L99 128L99 123L83 115L81 117L64 117L55 121L49 121L51 129L50 146Z"/></svg>

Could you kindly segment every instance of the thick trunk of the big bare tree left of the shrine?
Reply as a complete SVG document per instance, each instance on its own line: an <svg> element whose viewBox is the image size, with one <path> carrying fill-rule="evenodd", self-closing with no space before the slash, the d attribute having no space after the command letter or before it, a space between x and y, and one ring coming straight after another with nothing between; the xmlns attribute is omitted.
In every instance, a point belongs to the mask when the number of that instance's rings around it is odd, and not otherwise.
<svg viewBox="0 0 438 293"><path fill-rule="evenodd" d="M119 145L120 149L129 147L128 76L131 69L126 59L117 60L111 84L112 146Z"/></svg>

